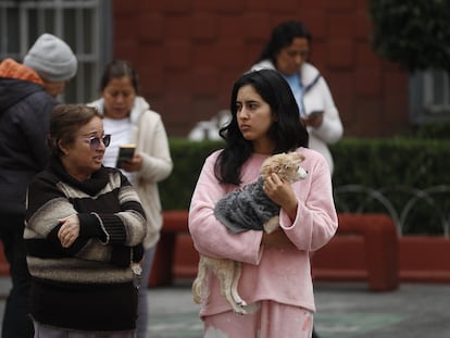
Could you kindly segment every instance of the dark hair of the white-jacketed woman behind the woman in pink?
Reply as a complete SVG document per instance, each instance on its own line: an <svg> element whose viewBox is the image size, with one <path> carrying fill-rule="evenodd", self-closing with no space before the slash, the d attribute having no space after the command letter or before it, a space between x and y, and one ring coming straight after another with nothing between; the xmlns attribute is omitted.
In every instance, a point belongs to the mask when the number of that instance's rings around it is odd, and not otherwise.
<svg viewBox="0 0 450 338"><path fill-rule="evenodd" d="M276 55L283 48L290 46L295 38L305 38L311 43L312 36L301 22L287 21L280 23L272 30L271 39L263 48L257 62L268 59L276 65Z"/></svg>

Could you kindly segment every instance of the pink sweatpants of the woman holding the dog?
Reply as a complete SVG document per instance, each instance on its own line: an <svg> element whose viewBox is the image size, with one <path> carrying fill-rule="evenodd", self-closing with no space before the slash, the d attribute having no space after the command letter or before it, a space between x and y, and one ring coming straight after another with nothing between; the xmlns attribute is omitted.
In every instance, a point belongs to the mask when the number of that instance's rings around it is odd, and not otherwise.
<svg viewBox="0 0 450 338"><path fill-rule="evenodd" d="M203 317L203 338L311 338L312 312L273 301L262 301L253 314L233 311Z"/></svg>

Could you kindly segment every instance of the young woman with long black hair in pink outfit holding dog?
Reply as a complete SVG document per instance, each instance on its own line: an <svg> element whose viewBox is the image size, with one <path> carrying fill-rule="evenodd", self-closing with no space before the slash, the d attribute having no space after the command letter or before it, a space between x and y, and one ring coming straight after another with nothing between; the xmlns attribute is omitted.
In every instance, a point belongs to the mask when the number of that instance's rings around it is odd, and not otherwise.
<svg viewBox="0 0 450 338"><path fill-rule="evenodd" d="M212 153L200 173L189 210L189 231L203 255L241 262L238 290L251 314L235 314L209 277L209 297L200 317L204 337L310 338L315 312L311 252L325 246L337 230L328 164L308 149L308 130L289 85L274 70L243 74L234 85L232 120L220 134L225 147ZM262 162L275 153L298 151L305 179L292 185L272 174L264 192L282 210L279 229L267 235L233 234L214 216L226 193L258 179Z"/></svg>

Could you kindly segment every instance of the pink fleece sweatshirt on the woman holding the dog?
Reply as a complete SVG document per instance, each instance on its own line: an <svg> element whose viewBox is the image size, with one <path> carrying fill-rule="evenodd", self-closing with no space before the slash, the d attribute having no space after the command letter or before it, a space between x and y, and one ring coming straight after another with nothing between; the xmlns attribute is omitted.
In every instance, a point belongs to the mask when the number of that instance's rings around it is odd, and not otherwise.
<svg viewBox="0 0 450 338"><path fill-rule="evenodd" d="M189 210L189 231L200 253L242 262L238 289L247 303L273 300L314 312L310 252L332 239L338 221L325 158L305 148L298 151L305 157L302 167L308 171L308 176L292 185L299 201L297 217L292 223L283 209L279 214L280 227L292 246L265 249L261 245L262 231L233 234L215 218L213 210L217 200L236 189L235 186L221 185L214 176L218 151L205 160L198 179ZM259 177L266 158L257 153L250 157L242 166L242 186ZM221 296L217 278L210 275L209 285L210 296L202 304L200 315L230 310Z"/></svg>

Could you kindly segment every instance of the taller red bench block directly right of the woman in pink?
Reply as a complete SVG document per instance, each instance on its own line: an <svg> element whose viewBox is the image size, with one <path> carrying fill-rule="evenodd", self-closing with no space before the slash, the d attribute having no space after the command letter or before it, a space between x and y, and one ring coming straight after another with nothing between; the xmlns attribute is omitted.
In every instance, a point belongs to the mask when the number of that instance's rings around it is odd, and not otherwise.
<svg viewBox="0 0 450 338"><path fill-rule="evenodd" d="M373 291L399 286L398 237L384 214L339 214L337 235L312 260L313 276L323 280L367 280Z"/></svg>

